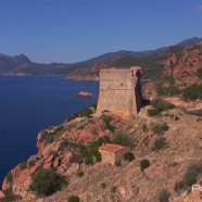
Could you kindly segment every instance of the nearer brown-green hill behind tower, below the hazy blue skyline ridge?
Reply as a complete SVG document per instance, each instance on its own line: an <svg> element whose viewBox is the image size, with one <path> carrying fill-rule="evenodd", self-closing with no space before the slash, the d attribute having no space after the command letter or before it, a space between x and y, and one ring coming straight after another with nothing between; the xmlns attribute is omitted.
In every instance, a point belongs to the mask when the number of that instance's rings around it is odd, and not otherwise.
<svg viewBox="0 0 202 202"><path fill-rule="evenodd" d="M100 68L126 68L129 66L141 66L144 78L151 78L163 73L164 61L174 53L179 53L184 50L182 47L167 47L162 48L160 51L153 51L153 53L144 54L144 56L134 56L132 54L122 54L116 58L112 58L108 61L99 61L92 65L87 64L80 68L75 68L68 74L71 79L83 80L98 80Z"/></svg>

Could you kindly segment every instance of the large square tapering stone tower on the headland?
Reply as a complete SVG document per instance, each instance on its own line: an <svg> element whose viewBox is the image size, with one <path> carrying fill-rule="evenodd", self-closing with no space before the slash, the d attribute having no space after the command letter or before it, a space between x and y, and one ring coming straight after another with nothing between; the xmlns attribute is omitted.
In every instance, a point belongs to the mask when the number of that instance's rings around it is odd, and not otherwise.
<svg viewBox="0 0 202 202"><path fill-rule="evenodd" d="M142 105L141 67L100 70L100 92L97 115L104 110L122 110L137 115Z"/></svg>

